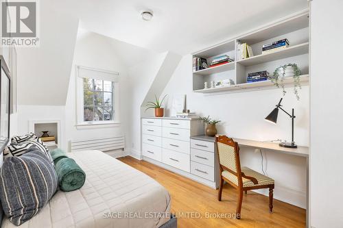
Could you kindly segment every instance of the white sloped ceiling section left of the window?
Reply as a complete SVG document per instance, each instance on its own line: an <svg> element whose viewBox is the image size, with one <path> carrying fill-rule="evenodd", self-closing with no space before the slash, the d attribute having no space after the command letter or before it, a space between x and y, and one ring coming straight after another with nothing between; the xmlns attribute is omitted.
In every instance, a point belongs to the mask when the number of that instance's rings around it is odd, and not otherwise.
<svg viewBox="0 0 343 228"><path fill-rule="evenodd" d="M40 47L17 48L19 105L65 105L78 18L40 1Z"/></svg>

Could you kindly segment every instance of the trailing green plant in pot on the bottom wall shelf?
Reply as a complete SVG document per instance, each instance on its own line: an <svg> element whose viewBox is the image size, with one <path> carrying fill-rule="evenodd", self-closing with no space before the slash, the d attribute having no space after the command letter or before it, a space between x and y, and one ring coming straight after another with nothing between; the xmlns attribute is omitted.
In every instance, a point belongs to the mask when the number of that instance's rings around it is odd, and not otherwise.
<svg viewBox="0 0 343 228"><path fill-rule="evenodd" d="M293 90L294 94L296 95L296 99L299 100L298 89L301 89L300 84L300 75L301 71L296 64L285 64L283 66L279 66L275 69L273 76L270 77L270 81L272 84L277 88L282 88L283 96L286 94L284 79L285 77L293 77Z"/></svg>

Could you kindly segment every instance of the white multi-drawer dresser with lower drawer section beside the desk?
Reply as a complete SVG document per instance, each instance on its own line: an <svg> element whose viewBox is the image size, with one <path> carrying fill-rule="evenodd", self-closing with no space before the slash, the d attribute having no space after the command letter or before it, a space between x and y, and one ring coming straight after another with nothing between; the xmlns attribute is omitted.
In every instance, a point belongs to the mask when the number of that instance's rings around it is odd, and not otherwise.
<svg viewBox="0 0 343 228"><path fill-rule="evenodd" d="M217 188L214 142L191 139L204 134L198 118L141 118L141 125L143 160Z"/></svg>

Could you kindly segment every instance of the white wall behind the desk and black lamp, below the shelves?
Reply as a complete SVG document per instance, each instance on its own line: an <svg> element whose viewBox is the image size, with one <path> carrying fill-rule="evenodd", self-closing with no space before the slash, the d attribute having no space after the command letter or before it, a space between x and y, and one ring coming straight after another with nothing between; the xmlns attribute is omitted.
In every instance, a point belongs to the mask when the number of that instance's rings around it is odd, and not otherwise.
<svg viewBox="0 0 343 228"><path fill-rule="evenodd" d="M192 59L185 55L163 94L169 94L167 108L171 108L173 94L187 94L187 109L198 115L210 115L222 121L217 126L219 134L251 140L275 140L291 138L291 119L279 112L277 125L263 119L282 97L281 89L259 90L216 95L192 92ZM189 77L185 77L188 75ZM300 90L300 101L297 101L292 88L287 88L283 99L285 110L295 108L296 143L308 146L309 142L309 86ZM275 180L274 197L298 205L306 206L306 160L292 155L263 151L266 173ZM259 172L261 155L252 149L241 147L241 164ZM267 193L265 191L260 191Z"/></svg>

